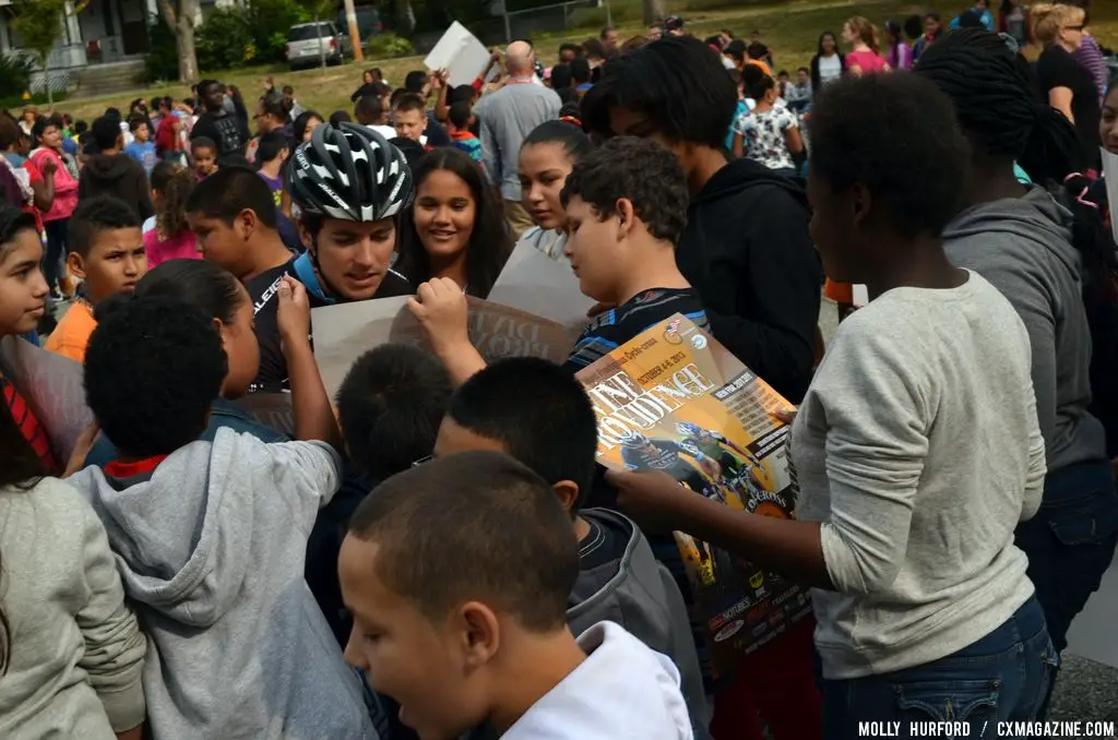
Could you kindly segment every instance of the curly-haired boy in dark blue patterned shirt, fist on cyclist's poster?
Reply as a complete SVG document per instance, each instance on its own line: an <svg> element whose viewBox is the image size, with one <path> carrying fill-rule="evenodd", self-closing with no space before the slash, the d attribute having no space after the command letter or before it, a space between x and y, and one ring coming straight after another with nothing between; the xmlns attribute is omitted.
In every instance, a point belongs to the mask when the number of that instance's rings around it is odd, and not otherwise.
<svg viewBox="0 0 1118 740"><path fill-rule="evenodd" d="M632 136L610 139L575 164L562 201L566 254L579 287L616 306L586 328L563 367L577 372L676 313L707 329L699 294L675 265L688 186L670 150ZM485 367L470 343L466 298L456 283L429 281L409 305L456 383Z"/></svg>

